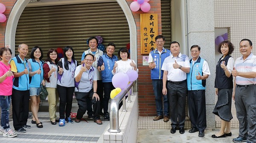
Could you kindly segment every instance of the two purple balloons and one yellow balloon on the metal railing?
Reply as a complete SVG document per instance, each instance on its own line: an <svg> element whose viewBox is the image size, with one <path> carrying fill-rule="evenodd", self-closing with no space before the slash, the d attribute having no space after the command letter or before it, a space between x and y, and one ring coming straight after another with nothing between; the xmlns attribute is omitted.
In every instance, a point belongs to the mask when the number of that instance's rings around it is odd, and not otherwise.
<svg viewBox="0 0 256 143"><path fill-rule="evenodd" d="M111 99L113 99L117 94L119 94L129 82L133 82L138 78L138 73L135 70L128 70L126 73L116 73L112 78L112 84L116 89L112 90L110 93Z"/></svg>

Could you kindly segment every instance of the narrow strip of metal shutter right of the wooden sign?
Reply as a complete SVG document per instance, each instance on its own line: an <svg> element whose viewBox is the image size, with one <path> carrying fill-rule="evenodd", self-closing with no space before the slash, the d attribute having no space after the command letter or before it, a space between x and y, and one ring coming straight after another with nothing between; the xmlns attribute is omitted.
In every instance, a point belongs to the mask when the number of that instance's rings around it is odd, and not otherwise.
<svg viewBox="0 0 256 143"><path fill-rule="evenodd" d="M164 47L170 49L171 43L171 0L161 0L162 35L165 37Z"/></svg>

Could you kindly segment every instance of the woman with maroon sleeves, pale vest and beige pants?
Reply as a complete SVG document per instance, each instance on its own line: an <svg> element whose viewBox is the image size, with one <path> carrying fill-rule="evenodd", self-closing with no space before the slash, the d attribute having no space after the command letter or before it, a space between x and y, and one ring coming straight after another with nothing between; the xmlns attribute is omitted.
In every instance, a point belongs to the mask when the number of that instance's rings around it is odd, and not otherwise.
<svg viewBox="0 0 256 143"><path fill-rule="evenodd" d="M47 59L44 62L44 79L45 87L48 92L49 115L52 125L56 125L56 109L58 104L58 94L56 94L58 67L57 67L57 50L49 49Z"/></svg>

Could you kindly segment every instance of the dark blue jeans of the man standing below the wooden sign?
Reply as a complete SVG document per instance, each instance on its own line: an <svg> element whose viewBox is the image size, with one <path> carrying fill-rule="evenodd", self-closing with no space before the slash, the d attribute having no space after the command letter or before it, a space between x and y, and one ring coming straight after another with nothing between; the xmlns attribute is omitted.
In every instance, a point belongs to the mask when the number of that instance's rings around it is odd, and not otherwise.
<svg viewBox="0 0 256 143"><path fill-rule="evenodd" d="M163 95L163 80L162 79L153 79L153 90L155 95L156 107L157 107L157 115L169 115L169 103L167 99L167 95ZM162 101L163 96L163 101ZM163 109L164 108L164 109Z"/></svg>

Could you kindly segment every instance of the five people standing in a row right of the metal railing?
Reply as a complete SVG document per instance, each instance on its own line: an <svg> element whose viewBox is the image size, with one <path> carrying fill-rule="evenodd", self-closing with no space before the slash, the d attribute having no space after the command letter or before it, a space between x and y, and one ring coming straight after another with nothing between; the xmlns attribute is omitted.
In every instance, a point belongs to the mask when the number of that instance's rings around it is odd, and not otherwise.
<svg viewBox="0 0 256 143"><path fill-rule="evenodd" d="M200 57L200 46L192 45L192 59L189 60L188 56L180 53L178 42L172 42L168 50L163 47L164 36L158 35L155 43L157 47L148 56L157 110L153 120L168 122L170 118L170 132L174 134L179 129L179 133L183 134L187 95L192 124L189 133L199 132L198 136L204 137L207 127L205 86L210 70L207 61ZM242 56L234 62L230 56L234 50L233 44L223 41L218 45L218 52L222 56L216 65L215 94L218 101L213 113L221 118L221 129L212 135L213 138L232 136L230 120L233 118L233 97L239 120L239 137L234 138L233 142L256 143L256 56L252 48L249 39L242 39L239 48Z"/></svg>

